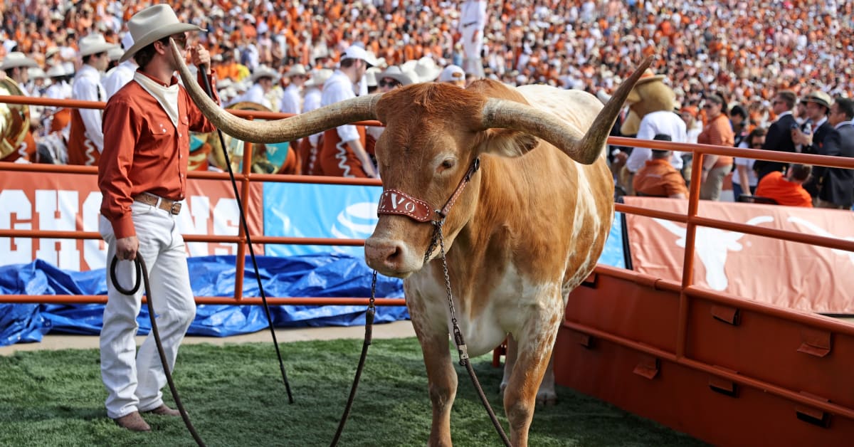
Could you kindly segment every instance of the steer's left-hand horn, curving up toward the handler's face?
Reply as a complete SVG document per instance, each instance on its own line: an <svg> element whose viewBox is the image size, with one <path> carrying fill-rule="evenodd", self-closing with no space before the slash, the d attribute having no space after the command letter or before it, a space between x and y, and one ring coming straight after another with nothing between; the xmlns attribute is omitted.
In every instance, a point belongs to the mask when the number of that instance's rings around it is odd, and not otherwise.
<svg viewBox="0 0 854 447"><path fill-rule="evenodd" d="M202 87L199 86L196 78L190 74L190 69L184 63L184 56L181 56L178 47L171 42L171 39L170 44L175 59L178 61L181 79L184 79L184 87L199 109L202 110L202 113L222 132L243 141L249 143L282 143L351 122L377 119L375 109L380 95L354 97L284 120L244 120L220 108L202 91Z"/></svg>

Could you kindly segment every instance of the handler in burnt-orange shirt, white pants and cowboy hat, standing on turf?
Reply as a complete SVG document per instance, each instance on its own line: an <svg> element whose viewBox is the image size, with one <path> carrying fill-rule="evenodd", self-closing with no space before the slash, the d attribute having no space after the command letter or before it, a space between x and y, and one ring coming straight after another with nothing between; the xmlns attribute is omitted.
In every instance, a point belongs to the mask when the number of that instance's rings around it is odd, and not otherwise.
<svg viewBox="0 0 854 447"><path fill-rule="evenodd" d="M213 132L214 127L178 85L174 75L178 60L170 48L170 41L184 48L186 32L202 28L180 23L167 4L139 11L127 28L133 44L120 61L133 57L139 69L104 109L104 128L109 132L98 164L103 195L98 229L108 244L108 259L115 256L121 261L114 273L107 273L101 374L108 393L107 415L119 426L145 432L150 427L140 412L179 414L163 403L166 374L150 333L135 352L142 291L124 295L113 279L130 287L135 274L127 261L137 256L145 260L154 287L149 299L157 308L168 368L173 368L178 345L196 315L187 253L176 221L186 197L190 131ZM199 82L202 76L209 79L208 51L201 45L185 51L199 68ZM214 100L219 101L215 93Z"/></svg>

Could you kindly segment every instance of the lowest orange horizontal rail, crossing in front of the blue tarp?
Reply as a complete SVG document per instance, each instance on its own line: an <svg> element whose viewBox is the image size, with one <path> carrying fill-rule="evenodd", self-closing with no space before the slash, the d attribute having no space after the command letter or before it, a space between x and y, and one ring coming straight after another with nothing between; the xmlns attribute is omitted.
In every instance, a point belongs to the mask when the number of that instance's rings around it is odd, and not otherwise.
<svg viewBox="0 0 854 447"><path fill-rule="evenodd" d="M267 297L267 303L274 305L302 306L366 306L371 298L360 297ZM104 304L106 295L0 295L0 303L56 303L56 304ZM145 297L143 297L145 303ZM196 304L247 304L258 305L260 297L243 297L236 300L233 297L196 297ZM377 306L406 306L403 298L377 298Z"/></svg>

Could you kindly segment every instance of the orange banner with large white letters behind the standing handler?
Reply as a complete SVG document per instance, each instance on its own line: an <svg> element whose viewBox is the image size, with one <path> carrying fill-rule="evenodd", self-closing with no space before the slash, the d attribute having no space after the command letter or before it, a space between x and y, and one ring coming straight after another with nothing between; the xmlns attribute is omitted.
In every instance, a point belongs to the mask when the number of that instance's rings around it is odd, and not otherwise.
<svg viewBox="0 0 854 447"><path fill-rule="evenodd" d="M261 234L261 185L252 185L247 209L249 231ZM254 204L257 204L255 206ZM101 191L93 175L0 175L0 228L97 232ZM178 215L183 234L237 235L240 215L227 181L190 179L187 200ZM236 255L236 244L194 242L190 256ZM0 265L32 262L39 258L58 268L85 271L105 266L107 248L100 239L0 238Z"/></svg>

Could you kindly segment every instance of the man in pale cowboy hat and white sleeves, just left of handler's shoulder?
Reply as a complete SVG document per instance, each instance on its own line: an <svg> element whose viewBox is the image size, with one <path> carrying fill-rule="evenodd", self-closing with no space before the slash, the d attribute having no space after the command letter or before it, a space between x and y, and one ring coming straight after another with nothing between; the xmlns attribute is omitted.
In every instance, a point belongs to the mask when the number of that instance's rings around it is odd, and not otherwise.
<svg viewBox="0 0 854 447"><path fill-rule="evenodd" d="M71 97L80 101L107 101L107 92L101 84L101 75L107 69L107 52L116 47L102 34L89 34L78 44L83 65L74 75ZM98 109L73 109L71 129L68 133L68 164L95 166L104 147L101 128L102 111Z"/></svg>

